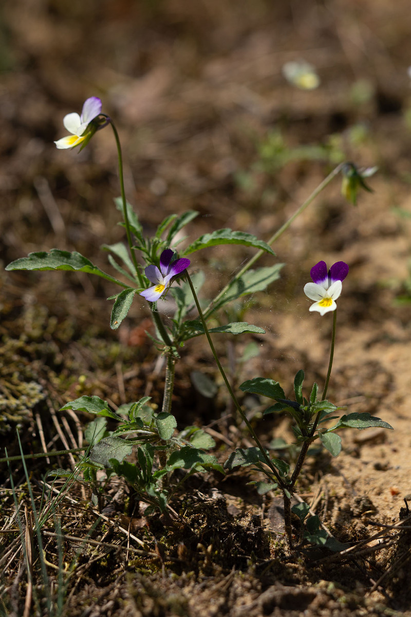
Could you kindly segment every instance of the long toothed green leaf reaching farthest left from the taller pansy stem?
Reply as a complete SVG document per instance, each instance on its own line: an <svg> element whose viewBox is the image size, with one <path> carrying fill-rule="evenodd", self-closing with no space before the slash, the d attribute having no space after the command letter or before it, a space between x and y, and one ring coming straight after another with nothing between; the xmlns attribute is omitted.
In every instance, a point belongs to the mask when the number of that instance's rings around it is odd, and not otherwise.
<svg viewBox="0 0 411 617"><path fill-rule="evenodd" d="M105 278L111 283L116 283L121 287L128 287L121 283L113 276L110 276L97 268L86 257L79 254L77 251L70 253L69 251L60 251L60 249L51 249L49 253L40 251L37 253L29 253L27 257L20 257L15 262L9 263L6 270L67 270L86 272Z"/></svg>

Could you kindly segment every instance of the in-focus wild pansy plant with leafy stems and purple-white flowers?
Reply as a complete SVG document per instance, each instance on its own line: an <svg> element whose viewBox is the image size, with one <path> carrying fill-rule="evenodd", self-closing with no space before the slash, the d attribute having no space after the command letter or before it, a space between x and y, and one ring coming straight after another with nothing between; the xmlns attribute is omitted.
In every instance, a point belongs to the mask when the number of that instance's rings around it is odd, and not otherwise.
<svg viewBox="0 0 411 617"><path fill-rule="evenodd" d="M143 397L136 402L121 405L116 410L112 410L107 401L97 396L81 396L62 407L62 410L78 410L96 416L96 419L89 423L84 431L86 440L90 445L89 452L81 461L84 479L91 481L95 489L94 502L99 503L99 491L101 489L96 478L97 471L102 469L105 470L107 478L110 478L111 474L123 476L134 487L139 499L149 503L152 510L158 508L161 511L166 510L171 495L190 474L207 469L224 473L224 469L219 465L217 458L204 452L214 445L214 440L210 435L196 426L188 426L177 432L176 418L171 413L175 364L180 357L181 347L190 338L205 335L238 415L245 422L256 443L255 447L235 450L230 454L224 467L226 470L232 470L238 466L253 465L254 469L264 473L268 480L268 482L255 482L260 494L270 490L282 492L285 505L285 531L291 547L293 543L291 497L295 492L296 481L309 445L319 438L322 444L333 455L336 455L341 449L341 439L335 433L337 429L362 429L367 428L367 426L391 428L379 418L372 418L369 414L342 416L335 426L324 427L324 423L338 417L330 417L330 414L336 412L338 408L328 402L325 396L330 379L335 343L335 300L341 294L342 281L348 273L348 266L344 262L338 262L327 272L325 263L319 262L311 270L313 282L307 283L304 288L307 296L315 300L310 308L311 311L319 311L320 315L333 312L334 315L332 351L322 396L319 397L319 387L314 384L309 399L303 397L303 371L298 371L295 378L295 401L287 399L280 384L272 379L251 379L240 386L242 392L253 392L276 401L274 405L266 409L265 414L287 412L295 421L294 433L301 450L291 476L289 476L288 463L278 458L272 458L259 441L258 435L235 396L211 339L213 333L262 334L264 329L250 325L246 321L235 321L209 329L207 322L210 321L211 317L216 317L216 314L221 309L225 309L233 300L238 300L258 291L264 291L279 278L282 263L256 269L252 269L252 267L264 253L275 256L272 244L338 173L343 173L344 190L347 194L349 193L351 201L354 202L357 190L360 187L367 188L367 186L364 187L362 176L351 163L338 165L287 222L272 234L267 242L242 231L224 228L203 234L177 254L176 248L182 242L177 237L188 223L195 220L198 212L189 210L179 215L169 215L158 225L154 236L147 238L137 213L131 204L126 201L120 138L112 118L102 113L100 99L98 97L87 99L84 102L81 115L76 113L66 115L63 119L63 125L71 135L55 142L58 149L73 149L76 146L80 146L80 149L82 149L89 143L97 130L106 126L112 128L118 151L121 192L121 197L115 200L115 205L123 215L123 221L120 225L124 226L127 242L126 244L118 242L112 245L104 245L102 248L108 252L108 262L120 274L120 278L100 270L87 257L76 251L69 252L60 249L30 253L27 257L22 257L10 263L6 270L81 271L104 278L111 284L120 287L120 291L109 298L114 300L110 318L110 326L113 329L118 328L124 318L127 317L136 297L142 297L145 302L149 303L155 325L153 342L166 358L163 404L159 412L155 406L150 404L150 397ZM253 247L256 249L256 253L235 273L216 297L208 301L208 305L202 310L197 291L201 288L205 276L200 271L197 271L192 277L190 276L187 268L191 267L192 263L187 256L220 244L239 244ZM167 294L173 297L176 309L173 317L165 319L157 310L157 302L164 299ZM195 308L198 311L198 318L189 318L190 312ZM126 460L133 448L136 451L136 463L130 463ZM173 487L171 476L177 469L185 470L186 474ZM62 473L62 471L54 473ZM307 510L302 511L300 508L296 512L301 520L306 518ZM149 510L146 510L146 513L149 513ZM308 528L309 519L307 520ZM311 531L314 528L315 526L311 522ZM323 544L328 541L320 533L317 536L320 538L319 542Z"/></svg>

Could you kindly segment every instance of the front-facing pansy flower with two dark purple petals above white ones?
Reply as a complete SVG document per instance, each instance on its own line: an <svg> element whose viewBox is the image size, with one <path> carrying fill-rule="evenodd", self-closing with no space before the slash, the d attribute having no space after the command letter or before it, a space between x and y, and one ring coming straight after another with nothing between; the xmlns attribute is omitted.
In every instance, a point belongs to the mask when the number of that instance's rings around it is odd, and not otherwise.
<svg viewBox="0 0 411 617"><path fill-rule="evenodd" d="M328 271L325 262L318 262L311 268L310 275L314 282L304 285L304 294L315 300L309 310L325 315L336 309L335 300L340 297L343 288L341 281L348 275L348 270L345 262L334 263Z"/></svg>

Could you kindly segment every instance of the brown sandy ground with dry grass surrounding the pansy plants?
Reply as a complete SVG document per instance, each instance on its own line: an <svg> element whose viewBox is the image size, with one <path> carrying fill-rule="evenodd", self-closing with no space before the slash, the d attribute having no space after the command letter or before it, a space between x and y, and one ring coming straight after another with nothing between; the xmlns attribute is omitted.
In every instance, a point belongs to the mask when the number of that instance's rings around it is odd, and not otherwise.
<svg viewBox="0 0 411 617"><path fill-rule="evenodd" d="M3 265L59 247L105 269L100 245L123 238L111 133L100 131L79 154L52 143L63 135L63 115L87 96L100 96L120 127L128 199L147 233L169 213L194 209L201 216L192 237L230 227L267 239L341 157L378 165L373 193L360 194L356 207L336 180L275 245L282 278L247 312L267 331L254 338L258 357L235 364L246 336L217 342L237 384L256 375L290 384L299 368L308 382L324 383L331 324L308 312L303 285L314 263L342 259L350 273L328 394L394 428L346 433L340 457L322 452L307 461L298 496L348 543L342 555L290 554L279 498L259 497L245 472L193 476L169 517L145 517L116 481L99 510L89 485L75 482L58 503L51 493L55 510L47 511L44 475L74 467L70 455L28 462L37 511L47 514L39 559L22 464L2 465L2 614L410 614L410 520L399 520L404 498L411 501L410 304L398 300L410 296L408 12L403 0L2 4ZM317 68L319 88L285 81L283 64L301 58ZM220 247L198 254L193 267L208 274L206 291L217 291L251 254ZM136 300L113 332L108 284L47 274L1 269L0 456L5 448L18 455L16 429L25 453L81 447L89 418L59 412L79 394L116 406L149 387L161 402L147 306ZM224 461L250 438L222 387L212 405L198 397L193 368L216 378L210 352L196 341L182 350L173 413L179 428L208 426ZM264 444L291 439L287 418L254 423Z"/></svg>

